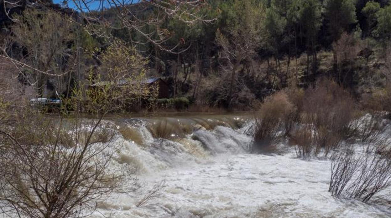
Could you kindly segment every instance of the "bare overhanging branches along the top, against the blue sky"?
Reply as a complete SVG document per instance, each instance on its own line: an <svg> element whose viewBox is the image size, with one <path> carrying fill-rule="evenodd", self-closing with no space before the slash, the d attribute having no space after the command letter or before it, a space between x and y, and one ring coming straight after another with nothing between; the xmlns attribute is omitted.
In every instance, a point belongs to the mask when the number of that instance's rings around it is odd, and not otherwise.
<svg viewBox="0 0 391 218"><path fill-rule="evenodd" d="M4 12L9 18L18 22L18 18L11 17L11 11L15 7L21 7L23 1L9 0L3 1ZM45 0L36 0L37 4L53 9L50 3ZM175 46L166 45L171 38L172 32L165 28L160 28L166 18L174 18L187 24L196 22L212 23L214 19L206 19L203 15L203 8L206 6L204 0L72 0L75 11L73 15L81 19L72 19L86 29L90 34L96 34L100 37L111 37L109 30L126 30L130 35L130 41L133 46L138 44L152 43L160 50L170 53L181 53L190 47L185 45L185 41L179 40ZM145 16L143 13L149 13ZM61 10L56 10L59 14L64 14ZM69 14L69 13L68 13ZM114 14L114 22L108 15ZM141 35L136 39L134 34ZM140 40L142 39L142 40Z"/></svg>

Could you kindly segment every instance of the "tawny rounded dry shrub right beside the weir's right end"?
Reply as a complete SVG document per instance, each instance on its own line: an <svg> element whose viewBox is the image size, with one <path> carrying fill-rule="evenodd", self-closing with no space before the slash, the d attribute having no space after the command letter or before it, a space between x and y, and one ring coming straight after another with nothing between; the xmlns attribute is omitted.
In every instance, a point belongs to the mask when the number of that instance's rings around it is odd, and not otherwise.
<svg viewBox="0 0 391 218"><path fill-rule="evenodd" d="M253 151L273 149L286 134L286 123L291 119L295 107L285 91L267 97L255 117L253 126Z"/></svg>

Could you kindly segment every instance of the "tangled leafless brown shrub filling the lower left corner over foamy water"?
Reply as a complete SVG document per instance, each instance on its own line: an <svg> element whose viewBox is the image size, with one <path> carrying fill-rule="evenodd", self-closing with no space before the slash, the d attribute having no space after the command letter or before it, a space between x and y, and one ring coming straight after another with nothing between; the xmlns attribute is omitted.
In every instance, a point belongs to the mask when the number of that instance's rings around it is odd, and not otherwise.
<svg viewBox="0 0 391 218"><path fill-rule="evenodd" d="M118 149L109 124L29 116L0 130L0 204L7 214L83 217L135 184L126 171L109 168Z"/></svg>

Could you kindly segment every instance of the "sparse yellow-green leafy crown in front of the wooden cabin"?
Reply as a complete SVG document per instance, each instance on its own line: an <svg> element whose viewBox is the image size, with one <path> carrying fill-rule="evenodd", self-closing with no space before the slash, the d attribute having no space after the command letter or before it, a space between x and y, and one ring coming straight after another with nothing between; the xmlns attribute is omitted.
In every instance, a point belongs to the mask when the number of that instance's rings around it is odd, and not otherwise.
<svg viewBox="0 0 391 218"><path fill-rule="evenodd" d="M87 80L77 84L72 97L63 99L64 111L106 114L140 104L143 99L156 99L157 87L143 83L148 60L135 48L115 39L100 60L101 66L86 72Z"/></svg>

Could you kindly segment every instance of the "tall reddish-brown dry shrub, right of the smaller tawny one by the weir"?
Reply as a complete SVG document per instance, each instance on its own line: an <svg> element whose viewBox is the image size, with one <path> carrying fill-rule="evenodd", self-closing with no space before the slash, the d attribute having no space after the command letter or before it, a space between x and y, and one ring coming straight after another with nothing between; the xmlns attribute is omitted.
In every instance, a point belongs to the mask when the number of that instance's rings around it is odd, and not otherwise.
<svg viewBox="0 0 391 218"><path fill-rule="evenodd" d="M342 140L353 136L354 103L350 94L333 80L322 79L316 88L306 90L302 118L312 126L315 154L323 150L327 156Z"/></svg>

